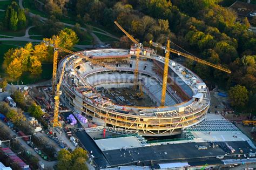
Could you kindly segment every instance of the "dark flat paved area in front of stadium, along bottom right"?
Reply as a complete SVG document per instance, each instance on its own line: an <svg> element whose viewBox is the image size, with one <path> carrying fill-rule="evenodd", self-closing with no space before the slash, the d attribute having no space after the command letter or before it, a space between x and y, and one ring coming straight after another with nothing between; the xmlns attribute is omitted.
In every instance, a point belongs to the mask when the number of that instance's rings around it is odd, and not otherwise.
<svg viewBox="0 0 256 170"><path fill-rule="evenodd" d="M223 142L219 142L223 143ZM244 153L249 153L256 151L253 149L246 141L237 142L227 142L230 146L235 149L235 154L239 154L239 148L241 148ZM198 150L195 145L207 146L206 150ZM210 143L201 142L195 143L185 143L185 144L171 144L171 145L159 145L151 147L139 147L139 148L129 148L129 149L116 149L112 151L103 151L106 155L107 160L109 160L112 166L119 165L136 165L137 162L144 162L145 165L150 165L150 161L188 161L191 159L198 159L198 161L204 159L210 159L211 161L218 161L217 156L225 155L226 152L222 148L210 148ZM227 157L227 156L226 156ZM225 158L226 158L225 157ZM232 156L233 157L233 156ZM230 158L226 158L230 159Z"/></svg>

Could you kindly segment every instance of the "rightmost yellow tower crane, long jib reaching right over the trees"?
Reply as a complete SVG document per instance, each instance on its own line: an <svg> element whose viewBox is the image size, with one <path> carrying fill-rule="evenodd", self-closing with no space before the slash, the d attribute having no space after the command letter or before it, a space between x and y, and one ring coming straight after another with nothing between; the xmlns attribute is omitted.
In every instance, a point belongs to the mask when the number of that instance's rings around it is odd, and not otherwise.
<svg viewBox="0 0 256 170"><path fill-rule="evenodd" d="M176 53L178 56L184 56L186 58L192 59L192 60L194 60L198 63L211 66L215 69L218 69L218 70L221 70L221 71L224 71L224 72L227 72L227 73L231 73L231 71L229 69L226 69L225 67L223 67L221 65L206 62L203 59L188 55L188 54L180 52L178 50L171 49L170 48L170 40L167 40L167 46L159 45L158 43L152 42L152 40L150 40L150 44L152 44L155 47L160 47L161 49L165 50L165 65L164 65L164 76L163 76L163 88L162 88L162 94L161 94L161 106L164 106L164 104L165 104L165 94L166 94L166 86L167 86L170 52Z"/></svg>

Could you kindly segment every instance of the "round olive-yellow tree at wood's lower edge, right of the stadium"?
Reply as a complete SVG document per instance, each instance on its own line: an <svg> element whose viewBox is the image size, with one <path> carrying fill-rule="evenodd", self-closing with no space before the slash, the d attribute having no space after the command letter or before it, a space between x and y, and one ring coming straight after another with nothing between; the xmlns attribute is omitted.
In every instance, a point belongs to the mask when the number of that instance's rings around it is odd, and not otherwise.
<svg viewBox="0 0 256 170"><path fill-rule="evenodd" d="M228 91L231 106L244 107L248 103L248 91L245 86L236 85Z"/></svg>

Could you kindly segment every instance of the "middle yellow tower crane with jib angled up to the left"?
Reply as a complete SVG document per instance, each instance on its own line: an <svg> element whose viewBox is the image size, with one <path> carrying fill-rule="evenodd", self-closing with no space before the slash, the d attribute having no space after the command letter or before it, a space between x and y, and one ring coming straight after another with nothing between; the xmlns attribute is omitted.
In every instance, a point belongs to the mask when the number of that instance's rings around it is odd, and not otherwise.
<svg viewBox="0 0 256 170"><path fill-rule="evenodd" d="M134 90L136 90L136 87L138 85L138 76L139 76L139 54L142 49L142 44L137 42L136 39L134 39L128 32L126 32L121 25L118 24L118 22L114 21L114 23L118 26L118 28L125 33L125 35L131 39L131 41L134 43L136 47L136 62L135 62L135 69L134 69Z"/></svg>

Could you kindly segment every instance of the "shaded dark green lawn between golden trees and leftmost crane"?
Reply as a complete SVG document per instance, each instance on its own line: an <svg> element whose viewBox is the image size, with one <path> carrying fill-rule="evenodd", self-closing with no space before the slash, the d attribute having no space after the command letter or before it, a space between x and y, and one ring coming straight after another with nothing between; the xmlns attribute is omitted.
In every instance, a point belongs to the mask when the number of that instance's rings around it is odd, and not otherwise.
<svg viewBox="0 0 256 170"><path fill-rule="evenodd" d="M19 78L24 84L34 84L39 81L49 80L52 77L52 64L42 64L43 72L39 76L32 76L29 72L23 73L22 77Z"/></svg>

